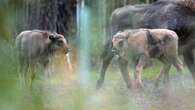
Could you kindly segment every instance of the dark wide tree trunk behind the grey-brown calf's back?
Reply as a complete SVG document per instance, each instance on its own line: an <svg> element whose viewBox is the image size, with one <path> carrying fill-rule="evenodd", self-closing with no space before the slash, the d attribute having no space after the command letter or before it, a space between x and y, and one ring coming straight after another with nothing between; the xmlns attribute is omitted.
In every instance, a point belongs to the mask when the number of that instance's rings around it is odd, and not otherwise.
<svg viewBox="0 0 195 110"><path fill-rule="evenodd" d="M25 0L23 29L41 29L71 36L76 33L76 0ZM25 19L25 20L23 20Z"/></svg>

